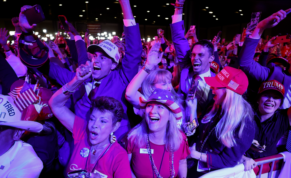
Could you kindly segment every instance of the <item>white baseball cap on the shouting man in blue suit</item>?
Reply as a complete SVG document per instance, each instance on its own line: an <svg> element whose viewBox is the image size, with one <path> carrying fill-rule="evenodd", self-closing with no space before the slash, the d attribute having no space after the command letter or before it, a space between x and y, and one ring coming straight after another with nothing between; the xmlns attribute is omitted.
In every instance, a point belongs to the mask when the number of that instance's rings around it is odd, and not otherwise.
<svg viewBox="0 0 291 178"><path fill-rule="evenodd" d="M87 51L91 54L94 54L96 49L102 49L104 52L106 52L106 54L112 57L115 60L115 62L118 63L120 59L118 47L110 40L102 41L99 44L91 44L90 46L87 47Z"/></svg>

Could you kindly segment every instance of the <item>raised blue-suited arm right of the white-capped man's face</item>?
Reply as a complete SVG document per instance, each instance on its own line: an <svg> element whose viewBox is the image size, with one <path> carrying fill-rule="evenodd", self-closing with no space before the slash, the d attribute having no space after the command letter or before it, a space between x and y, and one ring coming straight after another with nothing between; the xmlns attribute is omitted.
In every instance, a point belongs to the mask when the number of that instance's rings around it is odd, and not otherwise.
<svg viewBox="0 0 291 178"><path fill-rule="evenodd" d="M132 15L129 0L119 0L124 16L125 51L122 59L122 71L130 82L137 74L141 61L143 46L140 40L140 29Z"/></svg>

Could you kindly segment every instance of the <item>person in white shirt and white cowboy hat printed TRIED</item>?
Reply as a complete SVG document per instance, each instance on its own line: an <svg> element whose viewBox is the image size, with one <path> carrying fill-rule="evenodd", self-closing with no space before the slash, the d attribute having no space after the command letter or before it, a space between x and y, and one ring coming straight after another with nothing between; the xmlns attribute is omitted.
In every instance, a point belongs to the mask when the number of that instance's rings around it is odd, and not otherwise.
<svg viewBox="0 0 291 178"><path fill-rule="evenodd" d="M42 124L21 121L21 113L10 96L0 94L0 177L39 177L43 163L20 137L25 131L40 132Z"/></svg>

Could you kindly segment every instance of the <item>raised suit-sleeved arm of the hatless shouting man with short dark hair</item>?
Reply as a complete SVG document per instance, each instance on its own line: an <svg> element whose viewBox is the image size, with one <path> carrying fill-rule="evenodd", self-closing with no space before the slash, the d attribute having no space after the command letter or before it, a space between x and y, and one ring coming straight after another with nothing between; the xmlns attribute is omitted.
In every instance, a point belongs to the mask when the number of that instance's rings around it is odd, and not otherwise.
<svg viewBox="0 0 291 178"><path fill-rule="evenodd" d="M184 4L185 0L176 0L177 4ZM182 20L183 8L175 8L175 13L172 16L172 24L170 24L172 32L172 40L175 47L175 52L181 69L191 65L191 51L188 40L185 38L184 21Z"/></svg>

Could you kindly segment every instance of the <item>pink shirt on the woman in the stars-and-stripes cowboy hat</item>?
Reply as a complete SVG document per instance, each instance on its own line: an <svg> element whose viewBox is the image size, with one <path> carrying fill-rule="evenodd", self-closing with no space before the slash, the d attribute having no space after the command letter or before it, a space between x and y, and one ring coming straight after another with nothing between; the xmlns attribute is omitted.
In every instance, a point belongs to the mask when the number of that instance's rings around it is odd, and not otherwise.
<svg viewBox="0 0 291 178"><path fill-rule="evenodd" d="M181 133L181 134L183 134L183 141L179 149L174 152L175 177L177 177L177 174L178 174L179 161L182 159L185 159L187 155L190 154L187 137L184 133ZM152 178L153 169L151 166L151 161L149 160L146 145L140 149L139 147L137 147L137 145L135 145L134 140L127 140L127 142L126 140L127 139L124 139L125 148L128 154L132 153L131 163L132 163L132 168L133 168L135 176L137 178ZM162 162L160 175L162 177L170 177L170 153L167 150L165 150L165 145L156 145L150 142L150 146L151 146L151 149L154 150L154 153L152 153L152 157L158 171L160 169L161 162ZM165 155L162 161L164 150L165 150ZM154 174L154 177L156 177L155 174Z"/></svg>

